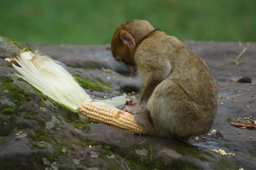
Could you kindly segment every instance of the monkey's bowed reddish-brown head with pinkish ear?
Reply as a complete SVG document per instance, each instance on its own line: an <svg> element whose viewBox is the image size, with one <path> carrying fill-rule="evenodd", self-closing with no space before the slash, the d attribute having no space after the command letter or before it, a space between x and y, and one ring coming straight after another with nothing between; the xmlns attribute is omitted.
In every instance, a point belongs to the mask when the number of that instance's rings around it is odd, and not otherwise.
<svg viewBox="0 0 256 170"><path fill-rule="evenodd" d="M116 61L124 62L132 73L137 71L134 60L137 45L155 28L146 20L131 20L116 28L111 40L111 52Z"/></svg>

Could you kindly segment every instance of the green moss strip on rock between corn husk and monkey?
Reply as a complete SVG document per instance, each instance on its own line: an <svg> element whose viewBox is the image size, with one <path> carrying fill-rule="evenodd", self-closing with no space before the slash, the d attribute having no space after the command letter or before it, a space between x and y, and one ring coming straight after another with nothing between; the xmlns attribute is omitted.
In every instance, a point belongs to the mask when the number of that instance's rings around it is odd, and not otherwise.
<svg viewBox="0 0 256 170"><path fill-rule="evenodd" d="M76 81L84 86L84 88L89 88L94 91L111 91L111 88L107 87L105 83L98 82L91 79L85 79L84 77L81 77L79 74L72 75Z"/></svg>

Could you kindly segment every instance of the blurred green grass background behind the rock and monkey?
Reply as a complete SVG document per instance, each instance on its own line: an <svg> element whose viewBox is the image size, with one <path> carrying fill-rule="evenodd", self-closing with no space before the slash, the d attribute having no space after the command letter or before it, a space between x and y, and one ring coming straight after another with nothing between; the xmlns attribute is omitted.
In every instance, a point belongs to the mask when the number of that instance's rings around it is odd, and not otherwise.
<svg viewBox="0 0 256 170"><path fill-rule="evenodd" d="M256 41L256 0L9 0L0 35L25 42L106 44L133 19L183 40Z"/></svg>

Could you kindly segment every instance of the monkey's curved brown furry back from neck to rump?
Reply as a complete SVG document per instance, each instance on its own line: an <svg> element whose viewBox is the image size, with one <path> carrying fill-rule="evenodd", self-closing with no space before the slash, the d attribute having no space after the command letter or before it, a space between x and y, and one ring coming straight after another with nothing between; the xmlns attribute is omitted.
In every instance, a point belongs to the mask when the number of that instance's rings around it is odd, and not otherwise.
<svg viewBox="0 0 256 170"><path fill-rule="evenodd" d="M150 48L144 49L150 45ZM201 111L215 115L217 107L217 85L207 63L176 37L163 31L156 31L138 46L140 51L152 53L157 60L169 60L171 73L166 79L172 79L195 102ZM143 52L142 52L143 53ZM160 63L160 62L159 62ZM166 62L166 64L168 64Z"/></svg>

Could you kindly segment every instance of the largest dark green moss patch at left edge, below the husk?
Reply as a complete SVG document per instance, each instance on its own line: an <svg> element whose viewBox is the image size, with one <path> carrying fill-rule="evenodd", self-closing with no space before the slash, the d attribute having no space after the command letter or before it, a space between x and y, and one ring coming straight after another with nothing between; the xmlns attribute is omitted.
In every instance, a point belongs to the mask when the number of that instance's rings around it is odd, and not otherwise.
<svg viewBox="0 0 256 170"><path fill-rule="evenodd" d="M23 89L16 86L11 86L13 82L11 78L3 79L2 82L3 82L2 88L9 90L6 93L6 96L9 98L12 98L15 105L21 106L23 105L25 99L27 101L31 100L31 97L29 96L29 94L26 93Z"/></svg>

